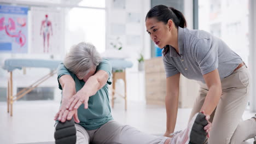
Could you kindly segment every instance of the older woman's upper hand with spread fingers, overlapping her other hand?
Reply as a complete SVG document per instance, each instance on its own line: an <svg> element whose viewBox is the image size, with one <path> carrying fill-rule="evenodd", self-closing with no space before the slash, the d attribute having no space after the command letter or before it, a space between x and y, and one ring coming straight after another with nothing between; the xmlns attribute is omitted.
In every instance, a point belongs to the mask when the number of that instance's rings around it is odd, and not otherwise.
<svg viewBox="0 0 256 144"><path fill-rule="evenodd" d="M84 109L88 109L88 100L89 96L86 95L86 93L84 93L83 91L78 91L75 95L71 97L71 99L68 100L66 109L68 109L69 111L77 110L78 107L82 104L84 104Z"/></svg>

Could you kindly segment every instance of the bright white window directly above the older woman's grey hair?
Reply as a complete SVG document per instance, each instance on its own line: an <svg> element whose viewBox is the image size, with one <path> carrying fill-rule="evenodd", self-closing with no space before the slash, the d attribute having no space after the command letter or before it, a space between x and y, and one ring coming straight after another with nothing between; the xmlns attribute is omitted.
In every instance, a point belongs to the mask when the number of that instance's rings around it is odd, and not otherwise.
<svg viewBox="0 0 256 144"><path fill-rule="evenodd" d="M82 1L79 6L105 7L105 1ZM66 49L81 41L92 43L98 52L106 49L105 9L72 8L66 15Z"/></svg>

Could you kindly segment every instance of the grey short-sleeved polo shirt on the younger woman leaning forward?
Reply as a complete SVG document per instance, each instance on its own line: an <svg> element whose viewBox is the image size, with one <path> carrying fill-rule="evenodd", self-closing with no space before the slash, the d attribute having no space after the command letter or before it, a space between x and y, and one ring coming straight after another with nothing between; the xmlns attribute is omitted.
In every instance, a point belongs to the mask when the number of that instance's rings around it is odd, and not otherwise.
<svg viewBox="0 0 256 144"><path fill-rule="evenodd" d="M224 41L205 31L178 27L178 47L179 53L170 46L170 51L162 56L166 77L181 73L205 83L202 75L218 68L222 80L242 63L242 58Z"/></svg>

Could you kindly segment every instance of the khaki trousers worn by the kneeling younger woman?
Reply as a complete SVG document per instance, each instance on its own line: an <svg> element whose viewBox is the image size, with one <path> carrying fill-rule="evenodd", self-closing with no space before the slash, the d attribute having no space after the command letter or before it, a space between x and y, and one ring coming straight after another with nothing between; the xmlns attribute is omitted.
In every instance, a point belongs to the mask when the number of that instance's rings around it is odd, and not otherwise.
<svg viewBox="0 0 256 144"><path fill-rule="evenodd" d="M205 101L208 88L200 82L199 95L195 100L190 119L199 112ZM246 65L235 70L222 80L222 96L211 115L212 128L209 144L242 143L253 138L256 133L256 121L242 121L242 115L248 102L249 72Z"/></svg>

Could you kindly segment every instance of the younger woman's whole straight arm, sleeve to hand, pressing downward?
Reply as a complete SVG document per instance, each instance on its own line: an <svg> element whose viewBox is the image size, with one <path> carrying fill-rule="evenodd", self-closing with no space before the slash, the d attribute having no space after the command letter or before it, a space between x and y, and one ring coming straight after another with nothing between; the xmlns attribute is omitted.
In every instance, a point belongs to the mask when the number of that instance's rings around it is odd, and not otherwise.
<svg viewBox="0 0 256 144"><path fill-rule="evenodd" d="M173 133L177 112L178 112L178 98L179 98L179 77L181 73L167 77L166 79L166 97L165 97L165 107L166 107L166 132L164 136L170 137Z"/></svg>

